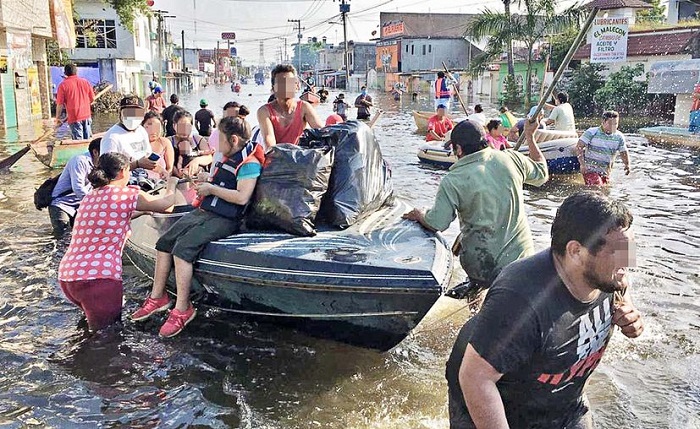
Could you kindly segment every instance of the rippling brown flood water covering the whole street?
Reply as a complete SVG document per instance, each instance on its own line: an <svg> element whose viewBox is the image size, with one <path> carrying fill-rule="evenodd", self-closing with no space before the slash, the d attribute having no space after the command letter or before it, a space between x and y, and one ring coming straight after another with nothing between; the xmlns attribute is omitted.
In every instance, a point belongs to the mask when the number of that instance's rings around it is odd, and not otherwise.
<svg viewBox="0 0 700 429"><path fill-rule="evenodd" d="M255 112L267 93L246 85L236 96L220 86L182 98L193 113L200 98L217 114L230 99ZM423 139L410 111L429 103L381 97L375 127L395 189L420 207L432 203L445 174L422 168L415 156ZM330 109L321 106L321 116ZM113 120L97 118L94 128ZM38 134L27 129L20 137ZM0 158L22 147L16 140L16 133L4 136ZM633 296L647 326L636 340L614 335L587 392L600 428L700 428L700 151L650 146L635 136L629 144L633 172L625 177L617 165L610 193L635 215ZM469 313L448 298L388 353L211 309L175 339L158 338L162 319L125 320L86 337L56 281L66 243L51 239L46 211L32 203L50 174L31 153L0 173L0 427L449 426L444 364ZM548 245L559 204L580 188L556 180L525 190L538 249ZM455 222L445 235L451 241L457 232ZM134 268L126 271L124 314L150 289ZM463 276L457 268L453 281Z"/></svg>

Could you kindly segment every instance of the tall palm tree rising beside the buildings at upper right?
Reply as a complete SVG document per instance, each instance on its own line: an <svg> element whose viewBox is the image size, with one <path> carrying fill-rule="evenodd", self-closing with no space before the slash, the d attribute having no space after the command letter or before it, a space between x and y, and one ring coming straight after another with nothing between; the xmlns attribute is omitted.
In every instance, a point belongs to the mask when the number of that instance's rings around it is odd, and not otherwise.
<svg viewBox="0 0 700 429"><path fill-rule="evenodd" d="M506 12L485 9L480 16L467 25L467 36L476 40L488 38L484 51L474 58L471 65L472 74L481 73L488 63L508 52L508 75L514 80L512 64L513 42L520 42L527 52L527 76L525 82L525 100L530 102L532 96L531 77L534 60L534 47L547 35L564 32L575 28L581 22L584 11L573 5L557 13L556 0L523 0L525 13L510 15L508 0L504 1Z"/></svg>

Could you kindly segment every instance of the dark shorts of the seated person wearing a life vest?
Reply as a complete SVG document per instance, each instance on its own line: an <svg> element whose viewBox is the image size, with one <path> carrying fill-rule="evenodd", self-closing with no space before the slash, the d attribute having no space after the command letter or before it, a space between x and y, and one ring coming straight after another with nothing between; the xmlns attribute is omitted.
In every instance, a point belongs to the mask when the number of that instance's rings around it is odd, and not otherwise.
<svg viewBox="0 0 700 429"><path fill-rule="evenodd" d="M192 263L207 244L235 234L240 228L240 219L228 219L202 209L194 209L158 239L156 250Z"/></svg>

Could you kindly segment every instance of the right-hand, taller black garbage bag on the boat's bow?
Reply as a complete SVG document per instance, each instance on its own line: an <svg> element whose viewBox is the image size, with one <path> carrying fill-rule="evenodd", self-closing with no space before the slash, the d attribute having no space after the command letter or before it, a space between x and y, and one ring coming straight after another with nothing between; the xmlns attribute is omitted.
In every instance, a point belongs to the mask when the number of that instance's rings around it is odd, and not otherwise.
<svg viewBox="0 0 700 429"><path fill-rule="evenodd" d="M333 172L321 202L319 220L347 228L390 202L391 169L382 157L374 132L366 124L348 121L319 130L308 129L299 145L335 148Z"/></svg>

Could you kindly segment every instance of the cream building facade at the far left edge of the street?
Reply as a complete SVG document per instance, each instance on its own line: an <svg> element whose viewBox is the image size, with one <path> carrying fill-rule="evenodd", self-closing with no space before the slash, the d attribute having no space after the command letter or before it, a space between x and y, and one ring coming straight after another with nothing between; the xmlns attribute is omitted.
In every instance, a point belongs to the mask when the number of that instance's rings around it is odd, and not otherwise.
<svg viewBox="0 0 700 429"><path fill-rule="evenodd" d="M49 0L0 1L0 129L51 115L46 41Z"/></svg>

